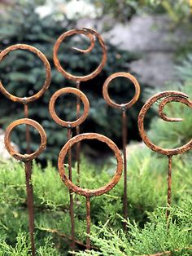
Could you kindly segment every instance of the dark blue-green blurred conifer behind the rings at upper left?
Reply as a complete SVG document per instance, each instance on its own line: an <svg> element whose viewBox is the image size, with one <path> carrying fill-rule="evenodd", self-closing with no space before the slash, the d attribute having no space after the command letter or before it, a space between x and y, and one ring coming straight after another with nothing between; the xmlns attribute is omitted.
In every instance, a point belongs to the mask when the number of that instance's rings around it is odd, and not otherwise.
<svg viewBox="0 0 192 256"><path fill-rule="evenodd" d="M37 120L46 129L48 145L46 152L41 155L42 159L56 160L60 148L66 142L66 129L55 123L50 117L48 104L51 95L62 87L76 86L74 82L65 79L55 68L52 59L53 47L59 35L69 29L76 28L74 20L68 20L65 15L63 19L55 19L57 15L47 15L41 18L37 12L37 2L18 2L10 6L0 16L0 49L16 43L26 43L37 47L50 61L52 68L52 81L46 94L36 102L29 104L29 117ZM59 16L60 17L60 16ZM59 60L68 72L78 75L91 73L102 58L101 49L96 43L94 50L88 55L72 51L72 46L85 49L89 41L85 38L70 38L63 44L59 51ZM92 131L102 133L115 139L121 145L121 114L114 108L107 107L103 99L103 82L111 73L129 71L128 63L135 60L135 55L127 51L120 51L110 42L107 42L107 64L98 77L85 83L81 83L81 90L85 92L90 102L89 118L81 126L81 131ZM12 51L0 64L0 76L3 85L13 95L28 96L40 90L45 80L45 70L37 56L28 51ZM116 79L115 86L111 85L111 98L124 103L131 99L134 94L133 85L124 79ZM62 98L62 97L61 97ZM76 99L70 102L65 97L57 101L56 111L59 117L65 120L76 119ZM129 139L137 139L137 113L141 107L141 100L129 111ZM13 103L1 95L0 101L0 123L5 129L11 121L24 117L24 107ZM19 126L20 127L20 126ZM20 132L19 132L20 131ZM21 130L13 132L13 140L24 149L26 146ZM36 136L37 137L37 136ZM32 149L37 148L38 139L34 136Z"/></svg>

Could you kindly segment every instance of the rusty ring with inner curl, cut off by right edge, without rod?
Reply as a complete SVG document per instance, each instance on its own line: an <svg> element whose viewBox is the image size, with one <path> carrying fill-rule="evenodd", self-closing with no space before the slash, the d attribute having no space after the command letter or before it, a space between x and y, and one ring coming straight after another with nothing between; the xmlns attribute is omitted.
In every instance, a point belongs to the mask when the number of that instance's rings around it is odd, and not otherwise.
<svg viewBox="0 0 192 256"><path fill-rule="evenodd" d="M144 106L142 107L138 115L138 130L142 137L142 140L144 141L144 143L146 143L146 146L148 148L151 148L151 150L167 156L178 155L186 151L189 151L192 148L192 139L190 139L188 143L185 143L185 145L181 146L180 148L169 149L169 148L159 148L154 143L152 143L151 140L147 137L146 132L144 130L144 118L146 116L146 112L149 108L151 108L152 104L154 104L157 100L161 98L164 98L164 99L159 104L159 117L161 117L164 121L182 121L181 118L167 117L164 114L164 106L170 102L180 102L192 108L192 101L189 99L188 95L185 95L180 91L168 90L152 96L150 99L146 101L146 104L144 104Z"/></svg>

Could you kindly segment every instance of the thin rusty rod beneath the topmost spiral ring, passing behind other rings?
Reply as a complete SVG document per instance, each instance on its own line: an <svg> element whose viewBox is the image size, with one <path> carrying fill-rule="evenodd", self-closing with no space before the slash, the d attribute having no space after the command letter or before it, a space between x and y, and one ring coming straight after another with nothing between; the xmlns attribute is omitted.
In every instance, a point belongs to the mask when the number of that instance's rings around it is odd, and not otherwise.
<svg viewBox="0 0 192 256"><path fill-rule="evenodd" d="M76 89L80 90L80 82L76 82ZM80 98L76 97L76 120L80 117L81 102ZM80 134L80 126L76 126L76 135ZM76 143L76 172L77 172L77 183L80 183L80 151L81 143Z"/></svg>

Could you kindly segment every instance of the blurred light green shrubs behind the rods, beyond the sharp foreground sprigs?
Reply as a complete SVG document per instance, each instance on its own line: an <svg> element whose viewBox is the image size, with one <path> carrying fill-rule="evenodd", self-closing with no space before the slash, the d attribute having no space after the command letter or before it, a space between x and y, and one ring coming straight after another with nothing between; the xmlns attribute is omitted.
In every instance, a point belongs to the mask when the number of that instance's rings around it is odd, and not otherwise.
<svg viewBox="0 0 192 256"><path fill-rule="evenodd" d="M150 225L146 224L149 221L147 213L152 213L158 206L166 206L166 170L168 161L166 158L163 161L154 152L145 148L144 145L140 145L130 146L128 162L129 220L130 223L137 223L140 228L146 228L145 225ZM179 205L182 209L182 207L184 207L184 201L189 200L192 188L190 179L192 170L190 166L190 162L186 161L185 158L183 158L182 161L179 157L173 158L173 207L175 207L174 205ZM82 161L81 187L100 188L111 179L113 170L115 170L115 163L113 161L111 161L111 165L104 166L103 170L100 172L98 172L98 166L96 167L87 161ZM74 166L72 174L73 182L76 183L76 166ZM53 253L53 255L63 254L63 252L68 255L68 245L70 243L68 236L71 236L68 189L64 186L57 170L55 170L53 166L49 164L46 169L41 170L41 166L37 165L35 162L33 163L33 188L37 250L40 251L40 249L43 250L43 248L45 248L44 252L47 253L49 248L52 248L55 249L55 254ZM3 246L7 246L7 248L15 249L17 244L15 237L18 236L18 231L22 232L23 236L27 236L26 234L28 232L24 166L20 163L15 161L2 161L0 198L0 235L1 237L6 237L6 240L4 239L2 243ZM85 242L85 198L76 195L74 195L74 198L76 240ZM120 237L123 237L123 233L120 231L122 227L121 219L116 215L122 215L122 198L123 180L121 179L120 183L118 183L116 188L112 189L111 192L91 199L92 234L97 234L98 232L98 228L94 225L102 225L109 221L107 227L110 229L110 232L111 228L113 228L114 231L112 234L120 234ZM175 218L175 221L177 220L182 230L184 228L182 222L185 222L185 218L188 219L188 215L185 208L181 210L181 213L183 213L182 218ZM159 216L158 214L159 212L157 212L157 216ZM162 214L160 216L162 216ZM153 223L153 221L151 221L151 223ZM151 225L149 232L151 232L151 236L153 236L152 231L155 229L155 223ZM124 235L124 239L125 238L127 240L127 236ZM47 239L49 242L46 242ZM142 240L142 238L139 239ZM24 242L24 240L22 241ZM94 235L93 241L97 245ZM132 241L132 239L130 241ZM53 245L50 245L51 243ZM107 241L105 241L105 243L107 244ZM113 243L113 240L111 243ZM24 249L28 248L27 245L24 245ZM166 244L166 246L167 245L168 244ZM172 246L177 248L176 245L177 244L174 244L175 247ZM169 249L170 247L166 248ZM149 250L151 250L151 247L149 247ZM41 253L40 255L46 254ZM49 254L47 253L47 255Z"/></svg>

